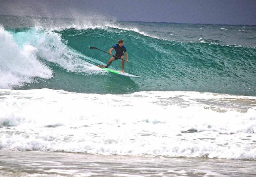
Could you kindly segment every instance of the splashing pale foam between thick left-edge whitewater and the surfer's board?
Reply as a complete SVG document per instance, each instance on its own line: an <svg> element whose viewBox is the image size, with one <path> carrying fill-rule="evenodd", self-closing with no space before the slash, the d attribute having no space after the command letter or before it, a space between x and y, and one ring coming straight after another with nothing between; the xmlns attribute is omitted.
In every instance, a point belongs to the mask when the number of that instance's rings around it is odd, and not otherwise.
<svg viewBox="0 0 256 177"><path fill-rule="evenodd" d="M98 70L93 64L83 60L83 58L90 58L67 47L58 33L34 27L29 31L15 33L13 36L18 42L23 38L22 43L29 43L36 47L39 57L56 63L68 71L92 74L92 71Z"/></svg>

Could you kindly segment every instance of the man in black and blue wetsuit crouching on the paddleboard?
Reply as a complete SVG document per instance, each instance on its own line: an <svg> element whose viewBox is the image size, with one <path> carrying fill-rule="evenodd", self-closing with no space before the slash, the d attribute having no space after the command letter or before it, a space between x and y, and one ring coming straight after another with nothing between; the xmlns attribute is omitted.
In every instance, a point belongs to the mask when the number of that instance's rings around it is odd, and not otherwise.
<svg viewBox="0 0 256 177"><path fill-rule="evenodd" d="M122 60L121 60L122 61L122 73L124 73L124 53L126 55L126 63L129 62L128 53L126 51L126 47L124 46L124 40L120 39L118 41L118 44L116 44L115 46L111 47L111 49L109 50L109 55L112 55L112 51L114 49L115 49L115 56L122 58ZM111 57L109 62L108 62L108 65L105 65L105 66L102 66L102 67L108 68L114 60L119 59L117 57Z"/></svg>

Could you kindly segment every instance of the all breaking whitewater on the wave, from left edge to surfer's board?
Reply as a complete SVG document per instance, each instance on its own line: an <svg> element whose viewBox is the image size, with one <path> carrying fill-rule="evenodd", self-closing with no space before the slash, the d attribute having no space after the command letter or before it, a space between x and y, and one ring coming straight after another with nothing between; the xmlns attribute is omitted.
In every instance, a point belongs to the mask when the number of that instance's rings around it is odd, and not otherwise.
<svg viewBox="0 0 256 177"><path fill-rule="evenodd" d="M33 82L35 77L51 78L51 69L40 58L72 72L103 73L83 60L92 58L67 47L59 34L39 27L17 33L0 27L0 46L0 88L22 86L25 82Z"/></svg>

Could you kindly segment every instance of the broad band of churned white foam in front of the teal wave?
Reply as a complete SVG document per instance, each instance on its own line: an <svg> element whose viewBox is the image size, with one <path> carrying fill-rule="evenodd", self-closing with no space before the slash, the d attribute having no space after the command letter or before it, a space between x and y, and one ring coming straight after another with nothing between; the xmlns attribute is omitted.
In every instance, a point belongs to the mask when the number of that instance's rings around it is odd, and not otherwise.
<svg viewBox="0 0 256 177"><path fill-rule="evenodd" d="M255 97L51 89L0 95L5 150L256 160Z"/></svg>

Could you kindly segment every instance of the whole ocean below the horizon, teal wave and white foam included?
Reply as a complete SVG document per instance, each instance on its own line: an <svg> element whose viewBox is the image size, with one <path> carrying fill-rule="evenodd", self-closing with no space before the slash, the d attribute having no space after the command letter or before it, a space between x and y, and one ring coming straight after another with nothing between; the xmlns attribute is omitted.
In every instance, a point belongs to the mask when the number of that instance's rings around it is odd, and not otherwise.
<svg viewBox="0 0 256 177"><path fill-rule="evenodd" d="M110 56L89 47L108 51L120 38L129 55L125 71L141 78L95 66ZM256 26L0 15L1 156L20 159L23 151L39 151L107 161L116 155L127 166L150 158L168 172L141 176L253 176L255 169L242 164L256 163L255 39ZM121 70L121 61L110 68ZM28 156L24 161L37 155ZM221 159L236 165L226 167L230 173L178 173L192 167L168 166L179 161L170 158L198 161L198 169L200 162ZM2 175L85 175L46 173L40 165L27 173L4 161L0 166ZM151 167L143 169L158 172ZM133 166L117 176L139 175L135 171Z"/></svg>

